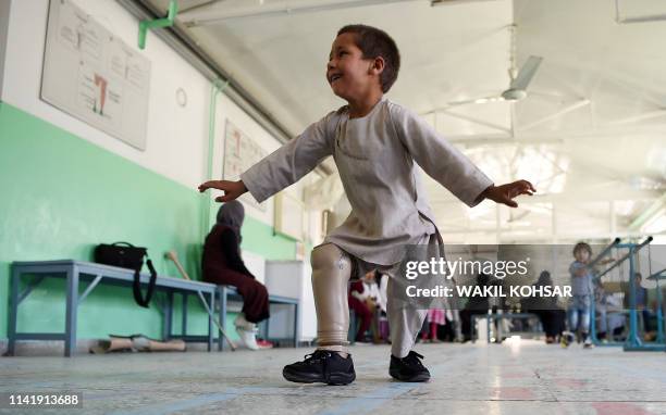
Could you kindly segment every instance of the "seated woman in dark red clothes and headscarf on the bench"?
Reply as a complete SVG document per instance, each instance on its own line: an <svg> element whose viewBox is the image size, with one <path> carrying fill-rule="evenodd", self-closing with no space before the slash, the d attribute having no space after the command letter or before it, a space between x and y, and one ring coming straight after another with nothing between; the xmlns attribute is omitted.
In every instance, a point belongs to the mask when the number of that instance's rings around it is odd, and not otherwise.
<svg viewBox="0 0 666 415"><path fill-rule="evenodd" d="M243 310L234 326L245 345L258 350L257 323L269 317L269 295L240 257L240 226L244 218L245 209L240 202L234 200L220 206L217 224L206 237L201 264L205 281L236 287L243 297Z"/></svg>

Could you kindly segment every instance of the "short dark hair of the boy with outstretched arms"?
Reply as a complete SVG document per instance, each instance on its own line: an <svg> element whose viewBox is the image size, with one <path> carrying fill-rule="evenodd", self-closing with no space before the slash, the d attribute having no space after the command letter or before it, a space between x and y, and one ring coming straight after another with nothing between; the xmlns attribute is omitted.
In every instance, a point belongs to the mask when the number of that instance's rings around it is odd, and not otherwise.
<svg viewBox="0 0 666 415"><path fill-rule="evenodd" d="M363 52L363 59L384 59L380 84L382 92L388 92L400 68L400 52L395 41L384 30L372 26L347 25L337 30L337 36L347 33L356 35L356 46Z"/></svg>

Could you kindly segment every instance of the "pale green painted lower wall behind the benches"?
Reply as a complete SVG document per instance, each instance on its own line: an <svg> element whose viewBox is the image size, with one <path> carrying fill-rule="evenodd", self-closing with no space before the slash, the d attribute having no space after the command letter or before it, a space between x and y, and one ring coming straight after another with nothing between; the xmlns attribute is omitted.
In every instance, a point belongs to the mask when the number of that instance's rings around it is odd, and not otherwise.
<svg viewBox="0 0 666 415"><path fill-rule="evenodd" d="M209 199L20 109L0 102L0 338L7 338L12 261L90 261L99 242L148 248L159 274L177 276L163 259L174 249L199 279L202 219ZM210 206L214 212L217 204ZM295 256L294 241L247 217L243 248L270 260ZM24 278L27 280L27 278ZM83 288L82 288L83 290ZM160 300L160 299L158 299ZM188 332L207 319L190 299ZM180 330L176 311L174 332ZM21 304L20 331L62 331L64 280L42 282ZM98 287L81 305L79 338L108 334L161 336L158 307L141 309L126 288Z"/></svg>

